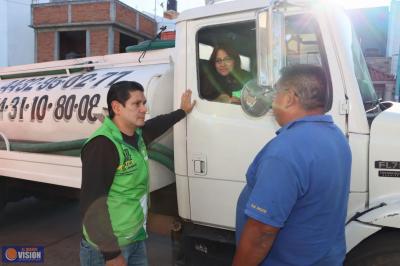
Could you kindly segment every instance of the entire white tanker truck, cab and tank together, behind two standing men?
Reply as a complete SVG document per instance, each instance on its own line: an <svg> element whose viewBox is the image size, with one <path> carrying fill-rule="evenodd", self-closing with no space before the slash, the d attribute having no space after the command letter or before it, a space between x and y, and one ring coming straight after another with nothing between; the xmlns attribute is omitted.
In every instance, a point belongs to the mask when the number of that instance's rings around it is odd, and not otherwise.
<svg viewBox="0 0 400 266"><path fill-rule="evenodd" d="M176 36L175 48L144 57L131 52L0 69L0 200L15 183L80 188L76 155L100 125L113 82L144 86L148 118L178 108L191 88L192 113L149 148L151 187L176 182L181 262L229 265L247 167L278 129L267 112L272 85L284 65L317 64L328 76L328 113L353 153L345 264L400 265L400 104L377 98L344 12L328 2L229 1L183 12ZM203 97L201 77L219 42L234 46L257 81L243 89L242 106Z"/></svg>

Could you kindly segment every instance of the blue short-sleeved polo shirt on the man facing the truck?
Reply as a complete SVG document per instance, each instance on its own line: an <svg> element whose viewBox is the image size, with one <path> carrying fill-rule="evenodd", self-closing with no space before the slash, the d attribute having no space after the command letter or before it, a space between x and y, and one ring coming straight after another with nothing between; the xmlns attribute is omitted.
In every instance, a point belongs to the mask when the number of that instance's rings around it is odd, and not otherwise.
<svg viewBox="0 0 400 266"><path fill-rule="evenodd" d="M236 210L236 241L248 217L280 228L261 265L339 266L351 152L331 116L306 116L282 127L247 170Z"/></svg>

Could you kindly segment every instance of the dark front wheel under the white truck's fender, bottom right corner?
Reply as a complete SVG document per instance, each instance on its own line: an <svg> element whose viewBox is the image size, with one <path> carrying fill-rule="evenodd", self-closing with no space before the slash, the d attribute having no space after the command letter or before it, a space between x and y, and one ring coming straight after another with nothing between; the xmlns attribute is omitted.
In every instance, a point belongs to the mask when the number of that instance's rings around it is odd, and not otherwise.
<svg viewBox="0 0 400 266"><path fill-rule="evenodd" d="M344 265L400 265L400 231L384 229L384 231L370 236L350 251Z"/></svg>

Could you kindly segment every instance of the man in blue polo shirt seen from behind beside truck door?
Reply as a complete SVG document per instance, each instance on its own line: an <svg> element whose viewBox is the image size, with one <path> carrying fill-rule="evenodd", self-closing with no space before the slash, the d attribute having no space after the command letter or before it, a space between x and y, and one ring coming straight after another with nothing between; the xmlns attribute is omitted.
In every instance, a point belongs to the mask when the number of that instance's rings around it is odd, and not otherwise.
<svg viewBox="0 0 400 266"><path fill-rule="evenodd" d="M324 71L288 67L276 90L272 108L281 129L247 171L233 264L342 265L351 152L324 115L330 101Z"/></svg>

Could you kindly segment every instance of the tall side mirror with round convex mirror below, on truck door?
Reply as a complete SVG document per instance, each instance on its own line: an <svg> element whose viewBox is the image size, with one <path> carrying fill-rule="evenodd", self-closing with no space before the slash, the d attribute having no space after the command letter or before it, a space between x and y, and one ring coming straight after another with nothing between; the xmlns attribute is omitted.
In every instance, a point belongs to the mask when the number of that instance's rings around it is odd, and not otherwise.
<svg viewBox="0 0 400 266"><path fill-rule="evenodd" d="M271 109L285 52L285 17L273 4L257 13L257 81L245 84L240 99L246 114L261 117Z"/></svg>

